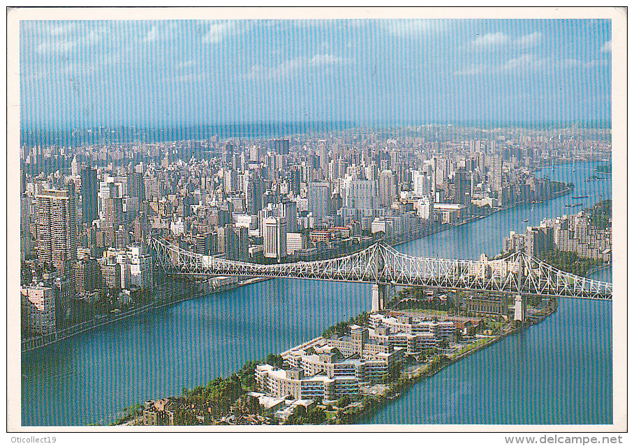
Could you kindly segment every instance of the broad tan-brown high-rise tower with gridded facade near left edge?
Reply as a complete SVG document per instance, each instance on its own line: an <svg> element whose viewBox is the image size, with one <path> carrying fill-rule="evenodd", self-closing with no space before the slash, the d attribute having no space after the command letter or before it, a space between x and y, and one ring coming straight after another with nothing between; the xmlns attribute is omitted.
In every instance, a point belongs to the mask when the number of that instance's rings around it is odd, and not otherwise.
<svg viewBox="0 0 634 446"><path fill-rule="evenodd" d="M38 261L66 274L77 258L75 199L68 190L43 190L36 197Z"/></svg>

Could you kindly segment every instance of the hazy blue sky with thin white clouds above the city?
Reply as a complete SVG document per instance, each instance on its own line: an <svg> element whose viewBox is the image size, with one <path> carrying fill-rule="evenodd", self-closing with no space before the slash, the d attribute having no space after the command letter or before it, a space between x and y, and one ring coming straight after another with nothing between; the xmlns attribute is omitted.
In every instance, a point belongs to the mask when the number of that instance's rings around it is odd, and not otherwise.
<svg viewBox="0 0 634 446"><path fill-rule="evenodd" d="M22 125L610 118L609 20L20 22Z"/></svg>

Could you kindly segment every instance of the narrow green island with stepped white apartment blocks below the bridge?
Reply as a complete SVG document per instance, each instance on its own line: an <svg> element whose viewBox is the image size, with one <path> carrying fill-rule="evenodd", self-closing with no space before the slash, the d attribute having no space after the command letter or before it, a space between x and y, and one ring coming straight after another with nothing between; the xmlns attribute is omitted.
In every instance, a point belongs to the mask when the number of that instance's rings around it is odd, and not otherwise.
<svg viewBox="0 0 634 446"><path fill-rule="evenodd" d="M540 297L525 304L516 312L506 295L402 289L381 312L338 323L229 378L126 408L113 424L355 423L415 381L542 321L557 307L556 300Z"/></svg>

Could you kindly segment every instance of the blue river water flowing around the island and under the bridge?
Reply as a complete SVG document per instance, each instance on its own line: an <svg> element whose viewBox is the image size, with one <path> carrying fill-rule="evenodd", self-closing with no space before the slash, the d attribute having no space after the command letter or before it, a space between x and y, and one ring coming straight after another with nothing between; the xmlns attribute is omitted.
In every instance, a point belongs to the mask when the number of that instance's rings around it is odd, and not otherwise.
<svg viewBox="0 0 634 446"><path fill-rule="evenodd" d="M575 183L572 196L503 210L397 246L417 256L478 259L509 231L612 197L584 181L596 163L539 175ZM575 208L578 212L578 209ZM524 223L524 220L529 222ZM611 270L594 278L612 280ZM369 311L370 285L272 279L152 310L22 355L22 424L108 424L134 403L228 376ZM543 323L409 388L367 415L372 424L611 424L612 302L561 299Z"/></svg>

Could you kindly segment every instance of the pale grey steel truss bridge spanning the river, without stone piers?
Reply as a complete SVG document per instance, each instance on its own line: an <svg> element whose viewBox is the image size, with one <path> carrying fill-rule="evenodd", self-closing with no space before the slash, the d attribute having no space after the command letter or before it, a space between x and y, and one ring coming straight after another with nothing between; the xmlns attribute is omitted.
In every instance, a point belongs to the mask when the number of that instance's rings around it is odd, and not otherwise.
<svg viewBox="0 0 634 446"><path fill-rule="evenodd" d="M558 270L525 252L498 260L429 259L408 256L376 243L335 259L261 265L195 254L161 238L150 237L149 245L158 268L168 273L295 277L379 286L425 286L446 291L612 299L612 284Z"/></svg>

